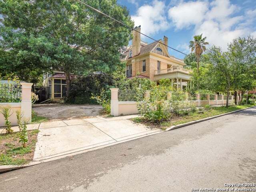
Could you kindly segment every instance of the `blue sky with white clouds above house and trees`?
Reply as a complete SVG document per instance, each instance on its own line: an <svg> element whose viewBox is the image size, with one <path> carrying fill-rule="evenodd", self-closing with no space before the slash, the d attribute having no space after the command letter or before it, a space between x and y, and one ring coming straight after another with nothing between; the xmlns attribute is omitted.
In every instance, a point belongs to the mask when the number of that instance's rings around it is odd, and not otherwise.
<svg viewBox="0 0 256 192"><path fill-rule="evenodd" d="M256 0L118 0L118 4L128 8L143 33L155 39L165 35L169 46L185 53L190 52L188 43L195 34L202 33L210 45L223 50L238 36L256 37Z"/></svg>

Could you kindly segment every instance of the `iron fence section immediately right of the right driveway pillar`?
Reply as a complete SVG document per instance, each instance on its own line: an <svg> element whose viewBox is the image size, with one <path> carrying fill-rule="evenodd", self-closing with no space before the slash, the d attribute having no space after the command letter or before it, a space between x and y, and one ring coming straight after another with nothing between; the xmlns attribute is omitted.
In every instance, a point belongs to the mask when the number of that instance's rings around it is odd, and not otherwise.
<svg viewBox="0 0 256 192"><path fill-rule="evenodd" d="M144 91L142 90L118 90L118 101L139 101L143 98Z"/></svg>

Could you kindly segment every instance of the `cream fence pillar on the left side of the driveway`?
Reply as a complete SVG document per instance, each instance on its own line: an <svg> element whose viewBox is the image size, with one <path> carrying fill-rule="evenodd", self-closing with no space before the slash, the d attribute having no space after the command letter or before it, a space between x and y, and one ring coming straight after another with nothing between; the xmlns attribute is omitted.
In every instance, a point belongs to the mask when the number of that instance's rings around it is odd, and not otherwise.
<svg viewBox="0 0 256 192"><path fill-rule="evenodd" d="M31 101L31 87L32 83L20 83L22 86L22 100L21 100L21 111L23 117L31 122L32 119L32 101Z"/></svg>

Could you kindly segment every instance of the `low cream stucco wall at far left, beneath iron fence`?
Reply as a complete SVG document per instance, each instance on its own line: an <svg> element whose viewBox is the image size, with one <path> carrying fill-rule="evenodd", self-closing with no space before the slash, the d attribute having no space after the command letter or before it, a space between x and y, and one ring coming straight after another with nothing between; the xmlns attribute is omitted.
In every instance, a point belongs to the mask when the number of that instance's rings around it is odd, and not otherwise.
<svg viewBox="0 0 256 192"><path fill-rule="evenodd" d="M9 118L11 125L17 125L16 111L21 110L21 103L0 103L0 108L10 106L12 115ZM0 127L4 126L4 116L0 113Z"/></svg>

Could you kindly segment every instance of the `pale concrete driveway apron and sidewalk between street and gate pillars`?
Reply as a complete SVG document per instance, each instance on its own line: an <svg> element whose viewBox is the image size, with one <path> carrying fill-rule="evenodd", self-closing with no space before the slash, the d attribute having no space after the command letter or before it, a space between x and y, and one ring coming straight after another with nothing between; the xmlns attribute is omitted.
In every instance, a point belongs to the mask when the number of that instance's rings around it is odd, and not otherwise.
<svg viewBox="0 0 256 192"><path fill-rule="evenodd" d="M46 162L162 132L128 120L134 117L136 115L43 122L39 126L34 160Z"/></svg>

